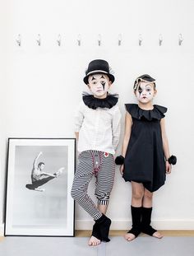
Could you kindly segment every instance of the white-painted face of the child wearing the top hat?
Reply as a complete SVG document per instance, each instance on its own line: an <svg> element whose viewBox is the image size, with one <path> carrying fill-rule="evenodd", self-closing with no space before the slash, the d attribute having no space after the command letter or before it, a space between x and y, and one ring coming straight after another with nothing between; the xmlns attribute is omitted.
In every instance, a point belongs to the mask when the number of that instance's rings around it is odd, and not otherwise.
<svg viewBox="0 0 194 256"><path fill-rule="evenodd" d="M88 78L88 86L95 98L104 99L111 85L109 77L104 74L91 75Z"/></svg>

